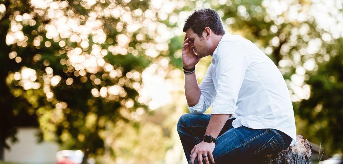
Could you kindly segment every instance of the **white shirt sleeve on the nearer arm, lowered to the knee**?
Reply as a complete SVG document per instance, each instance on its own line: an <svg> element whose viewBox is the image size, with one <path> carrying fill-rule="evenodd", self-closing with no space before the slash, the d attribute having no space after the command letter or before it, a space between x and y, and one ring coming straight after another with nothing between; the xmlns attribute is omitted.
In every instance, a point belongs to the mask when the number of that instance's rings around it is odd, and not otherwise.
<svg viewBox="0 0 343 164"><path fill-rule="evenodd" d="M217 49L218 88L212 114L235 115L238 93L248 68L248 56L234 41L224 41Z"/></svg>

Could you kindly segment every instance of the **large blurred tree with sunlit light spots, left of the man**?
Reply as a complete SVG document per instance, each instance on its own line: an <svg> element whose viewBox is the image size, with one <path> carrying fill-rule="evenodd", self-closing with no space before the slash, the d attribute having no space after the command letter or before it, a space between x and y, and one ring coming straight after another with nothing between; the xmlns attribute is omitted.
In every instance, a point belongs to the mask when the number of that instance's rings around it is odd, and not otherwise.
<svg viewBox="0 0 343 164"><path fill-rule="evenodd" d="M158 23L158 9L149 1L129 2L0 1L2 148L7 148L6 138L15 141L11 122L21 112L37 116L42 140L83 150L83 162L125 149L108 138L115 136L108 131L118 120L143 133L139 143L163 135L152 125L140 130L138 121L150 98L139 91L142 71L166 60L172 35L156 30L166 26ZM154 144L164 150L163 142Z"/></svg>

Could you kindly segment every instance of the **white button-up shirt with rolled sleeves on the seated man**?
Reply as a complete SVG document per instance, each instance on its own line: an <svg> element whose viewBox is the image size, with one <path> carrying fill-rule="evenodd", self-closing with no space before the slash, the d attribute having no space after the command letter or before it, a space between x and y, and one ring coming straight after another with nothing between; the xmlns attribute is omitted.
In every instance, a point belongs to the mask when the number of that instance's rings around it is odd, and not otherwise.
<svg viewBox="0 0 343 164"><path fill-rule="evenodd" d="M202 114L232 114L232 125L277 129L296 144L291 97L279 69L249 40L225 34L213 52L212 63L200 83L200 99L189 107ZM188 105L188 103L187 103Z"/></svg>

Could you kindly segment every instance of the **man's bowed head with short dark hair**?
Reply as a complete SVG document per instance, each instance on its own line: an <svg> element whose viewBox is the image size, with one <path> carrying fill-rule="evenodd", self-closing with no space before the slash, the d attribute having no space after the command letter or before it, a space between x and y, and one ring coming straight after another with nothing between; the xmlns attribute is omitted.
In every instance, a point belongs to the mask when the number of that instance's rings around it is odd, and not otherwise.
<svg viewBox="0 0 343 164"><path fill-rule="evenodd" d="M225 34L223 23L213 9L194 11L185 21L184 32L189 38L189 47L193 48L200 58L212 55L217 47L218 37Z"/></svg>

